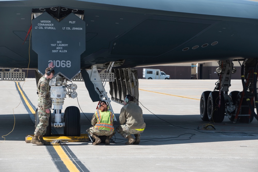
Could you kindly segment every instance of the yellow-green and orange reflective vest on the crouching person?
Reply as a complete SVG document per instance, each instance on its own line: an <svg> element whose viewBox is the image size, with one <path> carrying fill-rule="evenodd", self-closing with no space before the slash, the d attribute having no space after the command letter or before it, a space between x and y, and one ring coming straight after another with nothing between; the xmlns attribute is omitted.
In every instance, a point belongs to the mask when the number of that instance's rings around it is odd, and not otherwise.
<svg viewBox="0 0 258 172"><path fill-rule="evenodd" d="M95 128L99 130L107 130L107 131L113 131L113 120L114 120L114 114L110 111L101 112L100 110L97 110L95 112L96 118L98 119L98 122L95 124Z"/></svg>

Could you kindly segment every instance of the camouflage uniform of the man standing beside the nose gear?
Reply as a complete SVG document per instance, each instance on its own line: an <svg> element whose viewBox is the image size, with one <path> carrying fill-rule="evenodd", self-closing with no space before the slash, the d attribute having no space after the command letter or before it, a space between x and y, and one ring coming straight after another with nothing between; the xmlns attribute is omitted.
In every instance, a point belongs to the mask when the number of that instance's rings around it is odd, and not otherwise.
<svg viewBox="0 0 258 172"><path fill-rule="evenodd" d="M41 77L38 81L38 117L39 124L37 125L34 134L44 135L49 124L50 113L46 113L46 109L51 108L50 85L46 77Z"/></svg>

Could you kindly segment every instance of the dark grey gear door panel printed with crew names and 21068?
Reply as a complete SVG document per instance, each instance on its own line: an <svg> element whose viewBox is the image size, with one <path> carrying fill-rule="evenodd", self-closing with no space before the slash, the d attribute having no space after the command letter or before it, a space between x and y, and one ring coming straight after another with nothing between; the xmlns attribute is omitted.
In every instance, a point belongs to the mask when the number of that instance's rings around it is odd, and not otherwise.
<svg viewBox="0 0 258 172"><path fill-rule="evenodd" d="M32 49L38 54L41 74L50 62L55 75L71 80L80 72L80 55L85 51L85 22L69 14L58 22L44 12L32 20Z"/></svg>

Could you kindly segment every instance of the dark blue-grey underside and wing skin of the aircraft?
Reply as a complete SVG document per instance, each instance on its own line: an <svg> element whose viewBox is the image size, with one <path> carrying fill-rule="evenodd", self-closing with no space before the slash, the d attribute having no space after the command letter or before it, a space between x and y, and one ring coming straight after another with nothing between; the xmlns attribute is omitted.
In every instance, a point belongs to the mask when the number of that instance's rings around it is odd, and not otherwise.
<svg viewBox="0 0 258 172"><path fill-rule="evenodd" d="M38 68L30 32L24 40L33 10L46 9L51 14L51 7L74 9L84 15L81 69L118 60L124 60L120 68L126 68L258 55L255 1L0 1L1 68Z"/></svg>

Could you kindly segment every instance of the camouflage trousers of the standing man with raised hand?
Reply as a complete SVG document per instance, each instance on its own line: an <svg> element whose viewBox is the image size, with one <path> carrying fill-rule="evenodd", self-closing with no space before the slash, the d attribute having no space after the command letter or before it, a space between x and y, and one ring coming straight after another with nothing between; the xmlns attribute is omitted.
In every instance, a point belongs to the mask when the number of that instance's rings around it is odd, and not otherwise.
<svg viewBox="0 0 258 172"><path fill-rule="evenodd" d="M39 123L35 129L34 134L40 136L46 134L50 113L46 113L46 110L44 110L43 107L38 107L38 117Z"/></svg>

